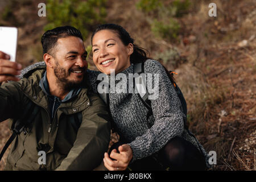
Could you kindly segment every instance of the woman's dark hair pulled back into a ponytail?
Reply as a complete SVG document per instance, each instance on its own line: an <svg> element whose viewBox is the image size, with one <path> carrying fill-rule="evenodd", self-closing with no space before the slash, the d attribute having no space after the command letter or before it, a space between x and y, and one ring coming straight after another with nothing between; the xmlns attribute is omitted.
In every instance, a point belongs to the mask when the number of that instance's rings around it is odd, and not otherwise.
<svg viewBox="0 0 256 182"><path fill-rule="evenodd" d="M118 24L109 23L109 24L101 24L100 26L98 26L92 34L92 38L90 39L91 43L93 40L93 36L98 31L101 31L101 30L111 30L111 31L116 32L118 34L119 38L122 40L122 43L125 46L128 46L129 43L133 44L134 51L130 56L131 63L133 63L133 64L143 63L147 59L150 59L149 57L147 57L147 53L146 53L146 52L148 52L147 49L144 49L144 48L139 47L136 44L134 44L134 39L131 38L130 34L125 30L125 28L119 26ZM164 69L166 70L167 76L170 78L171 82L174 83L175 80L174 80L174 77L172 76L172 74L170 74L170 72L167 70L166 67L164 67Z"/></svg>

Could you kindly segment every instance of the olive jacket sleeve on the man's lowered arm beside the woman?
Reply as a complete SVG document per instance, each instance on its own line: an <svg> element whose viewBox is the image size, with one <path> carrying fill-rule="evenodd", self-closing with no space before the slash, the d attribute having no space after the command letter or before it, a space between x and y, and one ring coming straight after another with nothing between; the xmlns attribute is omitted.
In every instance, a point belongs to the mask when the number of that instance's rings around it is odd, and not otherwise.
<svg viewBox="0 0 256 182"><path fill-rule="evenodd" d="M82 114L74 146L56 170L93 170L102 162L110 142L110 115L104 102L94 94Z"/></svg>

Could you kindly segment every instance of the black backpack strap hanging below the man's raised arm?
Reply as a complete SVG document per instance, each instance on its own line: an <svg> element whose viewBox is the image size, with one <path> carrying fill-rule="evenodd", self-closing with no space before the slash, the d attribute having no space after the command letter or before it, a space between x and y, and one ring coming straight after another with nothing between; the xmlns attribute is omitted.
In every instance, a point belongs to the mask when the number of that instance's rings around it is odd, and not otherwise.
<svg viewBox="0 0 256 182"><path fill-rule="evenodd" d="M3 147L1 154L0 154L0 161L3 157L3 154L5 154L7 148L10 146L11 142L15 139L17 135L19 135L22 131L24 131L24 135L27 134L28 125L34 121L36 114L38 114L40 107L38 105L35 105L32 103L32 101L28 102L27 107L25 108L24 113L22 114L22 119L18 119L17 121L13 122L13 134L11 137L7 140L5 146ZM31 113L31 115L30 115Z"/></svg>

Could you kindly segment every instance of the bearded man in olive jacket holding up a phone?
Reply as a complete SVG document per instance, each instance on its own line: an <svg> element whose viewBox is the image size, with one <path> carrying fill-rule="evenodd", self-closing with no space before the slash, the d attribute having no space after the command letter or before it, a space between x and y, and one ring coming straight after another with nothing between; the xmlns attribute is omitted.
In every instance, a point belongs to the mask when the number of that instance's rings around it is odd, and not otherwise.
<svg viewBox="0 0 256 182"><path fill-rule="evenodd" d="M92 170L102 162L109 146L110 117L100 97L82 86L87 68L82 41L74 27L45 32L46 71L38 69L20 80L15 77L20 65L1 52L0 82L13 82L0 87L0 121L13 118L14 126L18 119L35 115L15 138L5 169ZM30 105L32 110L24 114ZM46 160L40 160L42 154Z"/></svg>

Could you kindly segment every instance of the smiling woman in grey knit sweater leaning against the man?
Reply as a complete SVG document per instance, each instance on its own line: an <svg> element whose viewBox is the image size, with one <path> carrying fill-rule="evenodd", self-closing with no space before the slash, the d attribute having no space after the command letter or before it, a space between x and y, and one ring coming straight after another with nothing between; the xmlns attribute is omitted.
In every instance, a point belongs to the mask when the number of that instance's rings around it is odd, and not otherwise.
<svg viewBox="0 0 256 182"><path fill-rule="evenodd" d="M101 72L110 75L114 71L115 75L123 73L129 77L137 63L144 64L144 73L151 74L152 80L155 75L159 76L158 98L151 100L149 117L149 110L138 94L109 93L114 129L121 138L113 144L109 154L105 153L105 167L117 171L128 167L133 170L204 170L209 167L203 146L184 127L179 98L163 65L148 59L146 52L117 24L98 26L91 42L93 61L100 71L87 71L94 92L98 92L97 77ZM23 74L42 66L42 63L31 65Z"/></svg>

